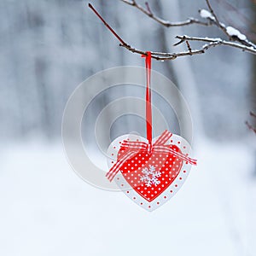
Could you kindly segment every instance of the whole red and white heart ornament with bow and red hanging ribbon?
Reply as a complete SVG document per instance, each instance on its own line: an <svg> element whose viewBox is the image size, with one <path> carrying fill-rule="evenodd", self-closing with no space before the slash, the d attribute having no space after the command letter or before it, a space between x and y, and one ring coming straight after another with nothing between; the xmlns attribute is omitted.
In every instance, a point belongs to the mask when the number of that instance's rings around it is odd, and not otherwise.
<svg viewBox="0 0 256 256"><path fill-rule="evenodd" d="M177 192L196 160L188 157L189 143L170 131L152 140L151 53L143 56L147 75L147 139L128 135L115 139L108 148L113 160L108 162L110 170L106 176L110 181L115 178L119 188L138 205L153 211Z"/></svg>

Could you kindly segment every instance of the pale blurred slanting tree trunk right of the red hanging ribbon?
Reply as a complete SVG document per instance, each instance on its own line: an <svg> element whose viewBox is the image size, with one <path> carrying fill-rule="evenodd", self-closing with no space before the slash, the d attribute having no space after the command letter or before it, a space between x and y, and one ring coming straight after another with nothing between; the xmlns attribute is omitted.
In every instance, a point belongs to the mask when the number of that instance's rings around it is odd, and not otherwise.
<svg viewBox="0 0 256 256"><path fill-rule="evenodd" d="M183 12L183 9L180 6L178 0L172 0L170 2L161 2L155 0L153 3L152 9L154 9L156 15L163 17L166 20L169 20L170 17L171 20L182 20L182 18L180 17L180 13ZM176 50L172 47L172 44L174 43L173 38L175 38L177 34L183 34L183 27L168 29L164 26L159 25L157 33L157 38L159 38L158 40L156 40L156 44L158 44L158 49L160 49L161 51L172 52ZM183 50L187 49L184 48ZM178 90L181 91L189 104L189 111L194 119L195 124L195 129L193 131L194 136L196 137L197 134L203 135L204 131L201 125L199 99L197 94L197 87L195 84L194 73L191 68L191 61L189 61L188 58L179 59L176 61L166 61L164 62L163 66L165 67L164 74L169 79L172 79L172 82L177 85ZM178 98L177 101L178 105L183 108L181 104L181 99ZM188 137L185 137L189 140L189 135L191 135L189 130L190 128L187 124L187 120L183 119L183 117L183 114L178 117L179 124L175 124L173 126L172 123L172 131L179 133L181 126L183 126L183 136L185 136L186 134L186 136Z"/></svg>

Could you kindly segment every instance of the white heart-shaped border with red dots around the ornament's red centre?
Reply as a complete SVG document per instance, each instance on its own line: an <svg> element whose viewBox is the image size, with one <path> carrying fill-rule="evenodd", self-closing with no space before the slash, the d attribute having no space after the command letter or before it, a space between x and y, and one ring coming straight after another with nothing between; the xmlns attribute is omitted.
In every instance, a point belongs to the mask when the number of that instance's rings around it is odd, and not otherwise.
<svg viewBox="0 0 256 256"><path fill-rule="evenodd" d="M117 155L121 143L127 138L129 138L131 141L139 140L145 143L148 142L146 138L134 134L125 134L120 137L117 137L108 147L107 154L109 169L114 165L114 163L117 160ZM157 140L157 138L158 137L155 137L153 139L153 143ZM176 134L172 134L172 137L166 142L166 144L171 144L171 141L172 144L176 145L178 148L181 148L183 154L189 154L191 146L183 137L180 137ZM183 183L189 176L190 169L191 165L183 162L181 171L174 179L172 184L168 188L166 188L166 190L163 191L158 197L156 197L154 201L151 202L148 202L141 195L137 194L137 192L134 189L132 189L131 185L126 182L121 172L118 172L113 180L115 181L115 183L117 183L119 189L121 189L125 193L125 195L127 195L131 199L131 201L134 201L135 203L137 203L138 206L143 207L148 212L153 212L158 207L164 205L166 201L169 201L172 198L172 196L175 195L179 189L181 189Z"/></svg>

